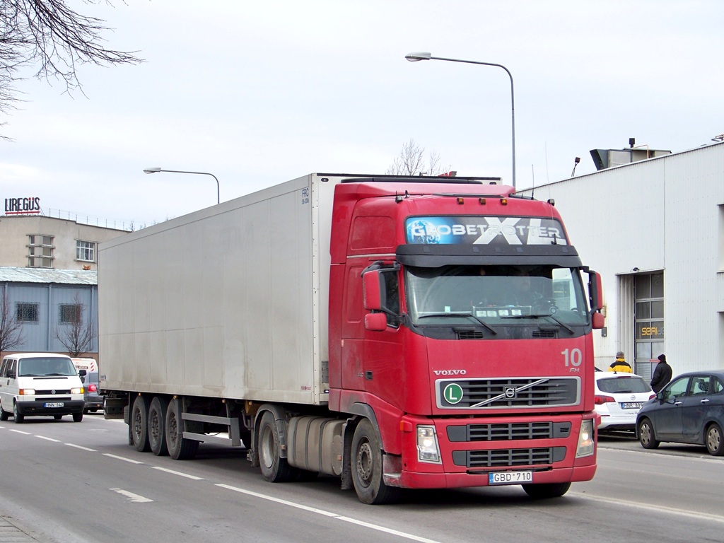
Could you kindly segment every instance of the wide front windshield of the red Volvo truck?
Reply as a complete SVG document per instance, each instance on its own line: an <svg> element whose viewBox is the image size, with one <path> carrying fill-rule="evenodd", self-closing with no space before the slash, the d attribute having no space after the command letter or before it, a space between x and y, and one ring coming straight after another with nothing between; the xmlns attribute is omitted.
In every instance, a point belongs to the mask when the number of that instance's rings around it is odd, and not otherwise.
<svg viewBox="0 0 724 543"><path fill-rule="evenodd" d="M408 313L415 325L482 321L494 327L548 319L588 322L576 269L553 266L443 266L406 269Z"/></svg>

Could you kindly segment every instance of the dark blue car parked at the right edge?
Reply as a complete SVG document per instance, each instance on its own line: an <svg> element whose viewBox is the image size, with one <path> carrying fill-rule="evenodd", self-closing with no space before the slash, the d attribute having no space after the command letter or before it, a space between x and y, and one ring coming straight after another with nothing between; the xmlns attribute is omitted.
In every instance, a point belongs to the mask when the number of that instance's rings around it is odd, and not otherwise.
<svg viewBox="0 0 724 543"><path fill-rule="evenodd" d="M660 442L705 445L710 455L724 455L724 371L681 374L636 417L636 437L644 449Z"/></svg>

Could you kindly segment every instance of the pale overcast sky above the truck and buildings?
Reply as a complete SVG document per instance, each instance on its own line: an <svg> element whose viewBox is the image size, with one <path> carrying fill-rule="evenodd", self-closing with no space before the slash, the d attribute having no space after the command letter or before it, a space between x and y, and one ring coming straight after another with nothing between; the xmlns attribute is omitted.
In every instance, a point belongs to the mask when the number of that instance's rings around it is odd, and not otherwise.
<svg viewBox="0 0 724 543"><path fill-rule="evenodd" d="M458 175L518 189L589 151L685 151L724 132L724 1L127 0L68 4L143 64L80 67L82 93L20 82L0 120L1 198L136 227L311 172L384 173L413 138ZM30 75L30 73L28 74ZM114 223L115 222L115 223Z"/></svg>

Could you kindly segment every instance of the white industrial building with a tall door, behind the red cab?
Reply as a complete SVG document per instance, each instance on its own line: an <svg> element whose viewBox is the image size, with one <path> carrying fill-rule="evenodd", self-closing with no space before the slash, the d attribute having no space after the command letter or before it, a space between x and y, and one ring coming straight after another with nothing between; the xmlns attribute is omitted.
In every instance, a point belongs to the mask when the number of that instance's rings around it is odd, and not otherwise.
<svg viewBox="0 0 724 543"><path fill-rule="evenodd" d="M649 156L522 192L555 200L581 260L602 274L597 367L623 350L642 376L660 353L674 374L723 369L724 143Z"/></svg>

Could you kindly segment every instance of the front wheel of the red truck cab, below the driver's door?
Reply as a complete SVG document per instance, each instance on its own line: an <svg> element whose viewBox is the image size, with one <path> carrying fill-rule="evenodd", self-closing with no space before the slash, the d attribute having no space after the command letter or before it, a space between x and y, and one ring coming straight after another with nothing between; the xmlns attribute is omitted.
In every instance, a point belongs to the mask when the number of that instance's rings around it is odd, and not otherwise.
<svg viewBox="0 0 724 543"><path fill-rule="evenodd" d="M400 489L382 480L382 444L372 423L364 418L352 438L352 482L363 503L379 505L399 497Z"/></svg>

